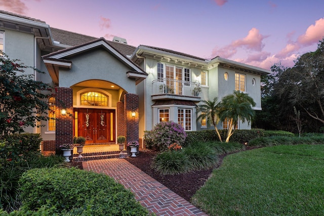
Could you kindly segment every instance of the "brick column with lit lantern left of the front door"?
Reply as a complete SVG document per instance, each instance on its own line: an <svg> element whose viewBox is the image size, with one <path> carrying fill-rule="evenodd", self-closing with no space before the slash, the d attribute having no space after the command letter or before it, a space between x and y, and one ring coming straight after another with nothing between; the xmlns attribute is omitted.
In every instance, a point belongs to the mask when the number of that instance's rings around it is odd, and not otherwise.
<svg viewBox="0 0 324 216"><path fill-rule="evenodd" d="M73 90L58 87L55 106L55 148L58 150L63 143L73 144ZM66 115L61 115L61 109L66 109Z"/></svg>

